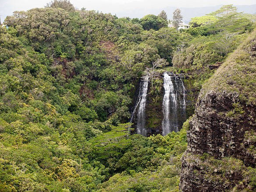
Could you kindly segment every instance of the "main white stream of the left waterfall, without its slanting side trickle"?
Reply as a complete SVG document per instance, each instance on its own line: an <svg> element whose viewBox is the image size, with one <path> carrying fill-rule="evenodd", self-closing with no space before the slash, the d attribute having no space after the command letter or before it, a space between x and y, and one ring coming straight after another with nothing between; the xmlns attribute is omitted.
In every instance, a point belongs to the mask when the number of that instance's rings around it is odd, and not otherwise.
<svg viewBox="0 0 256 192"><path fill-rule="evenodd" d="M140 135L147 136L147 131L145 128L145 107L146 107L146 96L148 92L148 81L149 76L146 76L143 79L141 96L139 98L139 110L138 110L138 120L137 120L137 133ZM137 105L138 105L137 104Z"/></svg>

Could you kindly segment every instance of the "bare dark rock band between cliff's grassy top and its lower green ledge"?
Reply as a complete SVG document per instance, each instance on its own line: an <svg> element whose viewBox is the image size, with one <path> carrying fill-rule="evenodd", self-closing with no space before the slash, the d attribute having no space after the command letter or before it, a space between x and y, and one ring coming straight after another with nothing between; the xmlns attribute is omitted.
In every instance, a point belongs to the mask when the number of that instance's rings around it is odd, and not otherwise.
<svg viewBox="0 0 256 192"><path fill-rule="evenodd" d="M236 93L210 91L199 96L190 121L188 153L209 153L216 159L233 156L246 166L256 164L256 154L247 151L245 133L256 130L256 106L240 103Z"/></svg>

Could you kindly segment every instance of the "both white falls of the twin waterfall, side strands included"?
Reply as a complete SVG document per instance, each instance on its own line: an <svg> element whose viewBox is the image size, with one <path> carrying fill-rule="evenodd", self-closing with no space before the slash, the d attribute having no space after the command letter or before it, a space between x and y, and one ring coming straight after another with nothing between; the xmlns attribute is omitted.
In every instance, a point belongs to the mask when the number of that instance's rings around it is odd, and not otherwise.
<svg viewBox="0 0 256 192"><path fill-rule="evenodd" d="M149 77L145 76L140 84L138 99L130 121L133 122L134 116L137 115L137 134L144 136L148 136L148 129L146 128L146 97L148 92L148 82ZM180 76L176 76L172 73L168 75L167 72L164 73L163 86L162 135L167 135L172 131L178 132L185 120L186 89Z"/></svg>

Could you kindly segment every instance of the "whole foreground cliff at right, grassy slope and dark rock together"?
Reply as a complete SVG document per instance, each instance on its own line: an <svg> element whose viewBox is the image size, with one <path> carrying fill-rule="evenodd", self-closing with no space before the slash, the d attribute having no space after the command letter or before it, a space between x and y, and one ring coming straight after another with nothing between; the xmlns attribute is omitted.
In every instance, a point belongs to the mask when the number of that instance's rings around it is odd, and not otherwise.
<svg viewBox="0 0 256 192"><path fill-rule="evenodd" d="M187 136L181 191L256 189L256 30L203 85Z"/></svg>

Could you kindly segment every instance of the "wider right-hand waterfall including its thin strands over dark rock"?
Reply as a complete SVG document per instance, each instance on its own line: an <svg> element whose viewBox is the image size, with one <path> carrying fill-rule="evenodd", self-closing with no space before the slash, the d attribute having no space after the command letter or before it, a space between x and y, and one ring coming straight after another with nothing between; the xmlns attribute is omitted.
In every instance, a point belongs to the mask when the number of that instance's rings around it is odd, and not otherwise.
<svg viewBox="0 0 256 192"><path fill-rule="evenodd" d="M186 89L180 76L164 73L163 135L178 132L186 120Z"/></svg>

